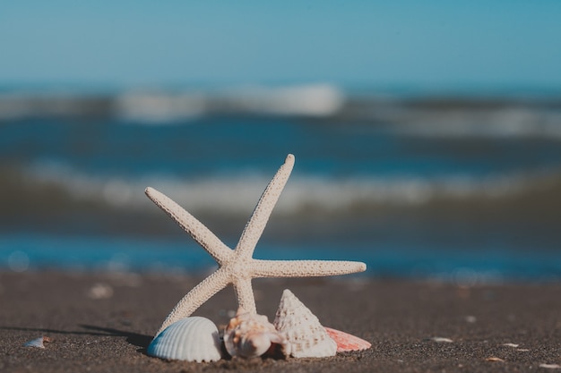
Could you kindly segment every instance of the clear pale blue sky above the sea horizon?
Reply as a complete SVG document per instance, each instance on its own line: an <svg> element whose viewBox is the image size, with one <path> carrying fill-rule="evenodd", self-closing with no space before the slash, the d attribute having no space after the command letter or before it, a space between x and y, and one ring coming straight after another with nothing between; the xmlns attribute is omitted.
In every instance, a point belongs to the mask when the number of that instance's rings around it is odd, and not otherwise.
<svg viewBox="0 0 561 373"><path fill-rule="evenodd" d="M561 1L4 1L0 85L561 89Z"/></svg>

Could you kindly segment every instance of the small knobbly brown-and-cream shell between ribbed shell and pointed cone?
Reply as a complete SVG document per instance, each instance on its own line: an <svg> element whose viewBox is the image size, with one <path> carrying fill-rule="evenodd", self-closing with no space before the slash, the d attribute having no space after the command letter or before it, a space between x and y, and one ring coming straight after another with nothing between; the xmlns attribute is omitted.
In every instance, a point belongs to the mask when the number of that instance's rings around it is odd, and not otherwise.
<svg viewBox="0 0 561 373"><path fill-rule="evenodd" d="M268 352L274 344L280 345L280 352L285 354L287 341L267 317L241 308L224 331L224 345L232 356L254 358Z"/></svg>

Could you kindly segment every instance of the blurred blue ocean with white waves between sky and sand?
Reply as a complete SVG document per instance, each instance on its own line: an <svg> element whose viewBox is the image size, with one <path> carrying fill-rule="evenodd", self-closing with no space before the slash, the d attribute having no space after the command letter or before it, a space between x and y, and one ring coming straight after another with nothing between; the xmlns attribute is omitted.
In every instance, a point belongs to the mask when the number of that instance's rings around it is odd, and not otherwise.
<svg viewBox="0 0 561 373"><path fill-rule="evenodd" d="M561 97L330 86L0 92L0 269L204 272L213 260L144 189L235 246L289 153L255 258L561 278Z"/></svg>

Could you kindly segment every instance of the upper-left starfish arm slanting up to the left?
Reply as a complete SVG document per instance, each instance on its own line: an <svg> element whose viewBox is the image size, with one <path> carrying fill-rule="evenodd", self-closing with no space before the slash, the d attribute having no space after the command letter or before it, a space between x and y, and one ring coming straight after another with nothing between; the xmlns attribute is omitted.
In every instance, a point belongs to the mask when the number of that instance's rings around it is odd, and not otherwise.
<svg viewBox="0 0 561 373"><path fill-rule="evenodd" d="M177 205L176 202L165 194L153 188L146 188L145 193L152 202L175 220L186 233L189 233L194 241L203 246L203 249L211 254L211 257L214 258L219 265L229 258L232 250L184 208Z"/></svg>

